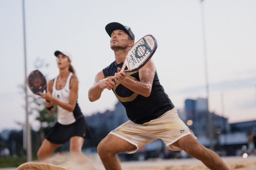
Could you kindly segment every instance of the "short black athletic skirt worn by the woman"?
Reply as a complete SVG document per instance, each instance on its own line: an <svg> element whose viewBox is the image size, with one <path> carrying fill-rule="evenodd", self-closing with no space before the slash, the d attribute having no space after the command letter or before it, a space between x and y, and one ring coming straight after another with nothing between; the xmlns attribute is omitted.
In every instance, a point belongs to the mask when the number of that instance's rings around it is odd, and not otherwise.
<svg viewBox="0 0 256 170"><path fill-rule="evenodd" d="M46 139L55 144L64 144L73 136L81 136L84 139L91 137L85 117L81 117L70 125L61 125L56 122Z"/></svg>

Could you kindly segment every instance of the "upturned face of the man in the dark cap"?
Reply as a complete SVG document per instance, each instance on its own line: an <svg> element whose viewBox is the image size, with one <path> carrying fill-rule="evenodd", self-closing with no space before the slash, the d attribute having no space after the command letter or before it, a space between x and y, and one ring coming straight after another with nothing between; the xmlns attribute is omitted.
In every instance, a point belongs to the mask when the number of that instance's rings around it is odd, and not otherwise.
<svg viewBox="0 0 256 170"><path fill-rule="evenodd" d="M128 34L122 30L115 30L111 34L110 47L112 50L116 48L126 49L129 45Z"/></svg>

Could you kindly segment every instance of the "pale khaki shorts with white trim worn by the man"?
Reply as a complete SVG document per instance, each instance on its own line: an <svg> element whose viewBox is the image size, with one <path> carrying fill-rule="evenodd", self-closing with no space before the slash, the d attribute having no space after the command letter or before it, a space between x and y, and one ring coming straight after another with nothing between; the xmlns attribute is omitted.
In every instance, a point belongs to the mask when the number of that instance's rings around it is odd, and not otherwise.
<svg viewBox="0 0 256 170"><path fill-rule="evenodd" d="M141 146L153 142L156 139L161 139L169 150L182 150L179 147L173 146L173 143L183 136L189 134L194 135L180 119L175 108L143 125L129 120L115 130L112 130L109 134L118 136L137 147L137 149L128 150L125 153L135 153Z"/></svg>

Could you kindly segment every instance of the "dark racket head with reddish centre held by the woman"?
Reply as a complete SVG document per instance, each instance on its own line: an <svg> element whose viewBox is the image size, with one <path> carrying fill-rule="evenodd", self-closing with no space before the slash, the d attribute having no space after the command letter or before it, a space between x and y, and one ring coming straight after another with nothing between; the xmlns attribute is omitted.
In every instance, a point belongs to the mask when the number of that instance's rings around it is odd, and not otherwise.
<svg viewBox="0 0 256 170"><path fill-rule="evenodd" d="M38 70L32 71L26 80L33 94L40 95L39 92L43 93L47 88L47 81L44 75Z"/></svg>

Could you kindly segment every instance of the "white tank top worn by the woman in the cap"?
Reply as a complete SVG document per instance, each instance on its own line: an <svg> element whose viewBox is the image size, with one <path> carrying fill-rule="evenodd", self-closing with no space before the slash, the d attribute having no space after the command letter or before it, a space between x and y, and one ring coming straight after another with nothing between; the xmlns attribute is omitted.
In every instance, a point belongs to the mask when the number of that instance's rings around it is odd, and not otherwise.
<svg viewBox="0 0 256 170"><path fill-rule="evenodd" d="M70 86L70 78L72 75L73 75L73 73L70 72L70 74L67 77L65 86L61 90L56 89L56 81L57 81L58 76L53 81L52 96L55 99L59 100L60 102L69 103L69 95L70 95L69 86ZM57 107L58 107L58 122L60 124L70 125L70 124L76 122L73 112L67 111L58 105L57 105Z"/></svg>

